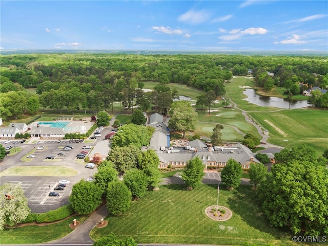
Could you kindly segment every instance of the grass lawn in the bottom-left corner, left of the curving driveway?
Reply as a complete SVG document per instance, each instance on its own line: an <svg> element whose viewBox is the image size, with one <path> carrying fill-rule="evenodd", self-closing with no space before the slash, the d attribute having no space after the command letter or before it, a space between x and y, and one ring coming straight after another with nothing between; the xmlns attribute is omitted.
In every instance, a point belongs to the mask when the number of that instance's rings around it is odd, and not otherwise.
<svg viewBox="0 0 328 246"><path fill-rule="evenodd" d="M42 242L49 242L55 239L66 236L71 233L73 229L70 229L69 224L76 219L83 222L87 219L87 216L79 215L70 217L59 223L50 224L47 226L22 226L15 229L5 228L0 231L0 243L1 244L36 244Z"/></svg>

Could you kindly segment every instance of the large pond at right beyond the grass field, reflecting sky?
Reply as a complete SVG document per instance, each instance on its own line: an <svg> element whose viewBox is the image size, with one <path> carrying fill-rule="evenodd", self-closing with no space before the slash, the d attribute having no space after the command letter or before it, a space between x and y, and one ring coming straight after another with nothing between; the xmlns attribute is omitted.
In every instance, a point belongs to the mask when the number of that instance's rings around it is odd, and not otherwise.
<svg viewBox="0 0 328 246"><path fill-rule="evenodd" d="M254 89L245 89L243 93L247 96L243 100L262 107L289 108L289 102L284 98L264 97L256 94ZM291 103L291 109L308 107L306 100L294 100Z"/></svg>

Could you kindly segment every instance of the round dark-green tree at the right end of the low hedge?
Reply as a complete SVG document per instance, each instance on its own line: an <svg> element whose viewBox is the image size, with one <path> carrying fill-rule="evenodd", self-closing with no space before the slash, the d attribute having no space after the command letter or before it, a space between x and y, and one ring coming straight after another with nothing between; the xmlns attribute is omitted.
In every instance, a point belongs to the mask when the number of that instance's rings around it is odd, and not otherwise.
<svg viewBox="0 0 328 246"><path fill-rule="evenodd" d="M101 203L103 192L94 182L75 183L68 200L77 214L91 214Z"/></svg>

